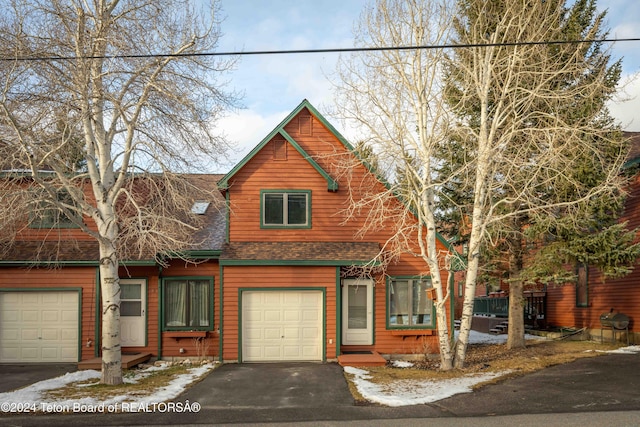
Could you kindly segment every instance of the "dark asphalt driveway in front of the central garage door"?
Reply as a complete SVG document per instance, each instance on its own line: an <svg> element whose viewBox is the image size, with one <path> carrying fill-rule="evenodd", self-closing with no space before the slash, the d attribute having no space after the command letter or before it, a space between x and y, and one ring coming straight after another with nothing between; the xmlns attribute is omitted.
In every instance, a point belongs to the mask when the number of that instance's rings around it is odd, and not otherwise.
<svg viewBox="0 0 640 427"><path fill-rule="evenodd" d="M206 409L336 408L353 406L336 363L243 363L215 369L180 399Z"/></svg>

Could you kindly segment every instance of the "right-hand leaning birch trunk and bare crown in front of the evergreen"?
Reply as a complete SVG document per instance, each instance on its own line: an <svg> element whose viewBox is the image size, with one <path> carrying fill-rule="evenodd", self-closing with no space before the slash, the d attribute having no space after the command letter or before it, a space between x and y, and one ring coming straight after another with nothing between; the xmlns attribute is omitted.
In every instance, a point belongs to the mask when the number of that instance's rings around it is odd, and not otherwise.
<svg viewBox="0 0 640 427"><path fill-rule="evenodd" d="M511 223L521 232L535 217L545 217L549 227L551 220L578 224L590 200L621 193L626 151L601 108L617 67L600 67L606 56L585 56L597 45L545 43L567 40L565 1L461 0L458 6L455 42L469 47L454 52L447 95L473 170L463 185L473 198L462 314L462 324L470 324L480 250L491 227ZM598 34L594 25L572 36ZM576 174L585 159L598 171L588 185ZM510 314L520 321L510 324L512 347L524 343L522 280L514 279ZM468 338L468 328L461 329L456 366L464 363Z"/></svg>

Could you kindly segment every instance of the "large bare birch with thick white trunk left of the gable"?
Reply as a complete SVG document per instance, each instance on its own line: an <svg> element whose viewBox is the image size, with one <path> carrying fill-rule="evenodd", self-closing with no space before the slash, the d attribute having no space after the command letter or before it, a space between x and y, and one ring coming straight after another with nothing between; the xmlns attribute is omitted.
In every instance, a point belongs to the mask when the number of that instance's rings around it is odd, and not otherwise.
<svg viewBox="0 0 640 427"><path fill-rule="evenodd" d="M220 161L226 149L213 128L236 102L220 81L234 59L197 55L216 48L219 8L186 0L0 7L0 143L14 178L4 181L3 203L53 209L98 242L102 382L118 384L119 262L161 261L194 245L191 203L208 197L170 171ZM7 218L5 242L20 233Z"/></svg>

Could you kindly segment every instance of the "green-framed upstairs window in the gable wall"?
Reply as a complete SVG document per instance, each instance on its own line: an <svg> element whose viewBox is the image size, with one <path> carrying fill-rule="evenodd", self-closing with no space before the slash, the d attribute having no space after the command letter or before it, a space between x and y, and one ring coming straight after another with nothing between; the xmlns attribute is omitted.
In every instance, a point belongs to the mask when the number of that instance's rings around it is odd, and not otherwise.
<svg viewBox="0 0 640 427"><path fill-rule="evenodd" d="M310 191L263 191L262 226L308 228L311 226Z"/></svg>

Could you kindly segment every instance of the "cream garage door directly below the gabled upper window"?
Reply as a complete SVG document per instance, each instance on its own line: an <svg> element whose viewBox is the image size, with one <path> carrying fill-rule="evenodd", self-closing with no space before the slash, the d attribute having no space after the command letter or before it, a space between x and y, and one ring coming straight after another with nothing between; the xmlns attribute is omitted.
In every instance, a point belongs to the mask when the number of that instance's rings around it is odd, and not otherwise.
<svg viewBox="0 0 640 427"><path fill-rule="evenodd" d="M244 362L321 361L322 339L322 292L243 292Z"/></svg>

